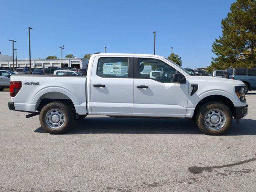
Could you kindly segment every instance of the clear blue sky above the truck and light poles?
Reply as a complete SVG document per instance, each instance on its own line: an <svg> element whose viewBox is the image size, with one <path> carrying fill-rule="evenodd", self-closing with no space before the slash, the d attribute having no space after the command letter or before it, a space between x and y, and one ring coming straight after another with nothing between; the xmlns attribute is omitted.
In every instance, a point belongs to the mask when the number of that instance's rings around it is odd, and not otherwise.
<svg viewBox="0 0 256 192"><path fill-rule="evenodd" d="M12 55L8 39L18 41L19 59L86 53L146 53L168 56L170 47L183 66L210 65L212 43L221 35L221 20L234 0L1 0L0 51Z"/></svg>

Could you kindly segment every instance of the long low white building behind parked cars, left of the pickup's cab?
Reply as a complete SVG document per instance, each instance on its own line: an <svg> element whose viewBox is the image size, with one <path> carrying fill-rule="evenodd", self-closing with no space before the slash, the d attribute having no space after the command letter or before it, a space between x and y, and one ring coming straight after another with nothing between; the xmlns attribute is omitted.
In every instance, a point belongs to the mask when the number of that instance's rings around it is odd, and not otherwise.
<svg viewBox="0 0 256 192"><path fill-rule="evenodd" d="M89 59L85 58L63 58L62 67L76 67L76 68L87 68ZM12 67L12 56L11 59L1 60L0 58L0 67ZM60 59L31 59L32 68L46 68L46 67L60 67ZM29 60L16 60L14 59L14 67L29 67Z"/></svg>

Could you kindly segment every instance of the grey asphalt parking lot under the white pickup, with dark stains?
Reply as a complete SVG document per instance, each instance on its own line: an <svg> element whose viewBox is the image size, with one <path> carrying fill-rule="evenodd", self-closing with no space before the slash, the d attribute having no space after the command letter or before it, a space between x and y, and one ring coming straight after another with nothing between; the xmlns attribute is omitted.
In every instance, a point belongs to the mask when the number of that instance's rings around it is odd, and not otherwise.
<svg viewBox="0 0 256 192"><path fill-rule="evenodd" d="M246 99L248 115L223 136L187 119L107 116L51 135L0 92L0 191L255 191L256 91Z"/></svg>

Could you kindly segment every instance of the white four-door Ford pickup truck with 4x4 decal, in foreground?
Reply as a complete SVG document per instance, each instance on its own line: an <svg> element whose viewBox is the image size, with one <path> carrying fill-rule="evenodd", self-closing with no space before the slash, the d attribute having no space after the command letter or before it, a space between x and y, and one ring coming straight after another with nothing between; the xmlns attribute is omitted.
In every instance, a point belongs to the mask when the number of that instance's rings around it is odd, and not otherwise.
<svg viewBox="0 0 256 192"><path fill-rule="evenodd" d="M148 68L156 71L153 77ZM73 120L90 114L191 118L205 134L219 135L233 117L238 123L248 113L244 88L237 80L190 76L162 56L94 54L87 77L11 76L8 106L30 112L27 118L40 114L42 128L51 134L66 132Z"/></svg>

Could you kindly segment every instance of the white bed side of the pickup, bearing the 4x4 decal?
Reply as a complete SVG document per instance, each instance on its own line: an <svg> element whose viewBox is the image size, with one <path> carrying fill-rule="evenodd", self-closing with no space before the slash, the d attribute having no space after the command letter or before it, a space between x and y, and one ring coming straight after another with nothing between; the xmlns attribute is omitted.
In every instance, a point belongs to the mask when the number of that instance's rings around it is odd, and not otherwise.
<svg viewBox="0 0 256 192"><path fill-rule="evenodd" d="M13 75L22 87L12 97L15 110L35 112L42 99L70 99L78 114L86 114L86 77L57 75Z"/></svg>

